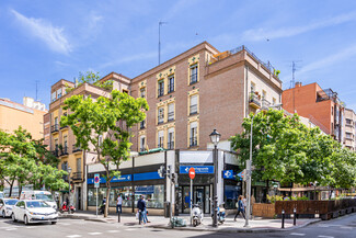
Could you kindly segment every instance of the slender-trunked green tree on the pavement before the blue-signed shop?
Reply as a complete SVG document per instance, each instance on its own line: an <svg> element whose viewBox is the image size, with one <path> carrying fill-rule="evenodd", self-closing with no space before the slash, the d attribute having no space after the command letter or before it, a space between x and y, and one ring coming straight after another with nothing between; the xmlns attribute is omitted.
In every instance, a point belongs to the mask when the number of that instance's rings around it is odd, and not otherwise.
<svg viewBox="0 0 356 238"><path fill-rule="evenodd" d="M149 110L147 101L114 90L111 98L100 97L96 100L90 95L72 95L65 101L65 110L68 109L72 113L61 117L61 126L71 127L77 146L84 151L93 147L97 161L105 169L106 217L111 180L119 175L118 166L129 158L130 128L145 120L145 111ZM115 171L110 170L111 165L116 167Z"/></svg>

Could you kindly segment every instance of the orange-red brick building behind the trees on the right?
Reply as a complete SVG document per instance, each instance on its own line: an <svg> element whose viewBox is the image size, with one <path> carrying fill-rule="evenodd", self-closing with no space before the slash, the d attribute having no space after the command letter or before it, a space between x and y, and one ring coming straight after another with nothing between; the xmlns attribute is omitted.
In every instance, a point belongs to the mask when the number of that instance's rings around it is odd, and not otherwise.
<svg viewBox="0 0 356 238"><path fill-rule="evenodd" d="M323 90L317 82L307 86L297 82L295 88L283 92L282 102L286 111L309 118L325 134L343 143L344 105L333 90Z"/></svg>

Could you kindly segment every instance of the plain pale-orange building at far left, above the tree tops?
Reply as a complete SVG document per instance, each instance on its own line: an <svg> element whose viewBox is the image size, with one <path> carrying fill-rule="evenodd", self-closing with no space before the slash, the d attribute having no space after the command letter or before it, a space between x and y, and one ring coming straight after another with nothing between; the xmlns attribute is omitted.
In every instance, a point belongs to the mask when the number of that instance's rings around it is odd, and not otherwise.
<svg viewBox="0 0 356 238"><path fill-rule="evenodd" d="M24 98L24 103L31 98ZM27 103L26 103L27 104ZM32 104L33 105L33 104ZM19 126L31 133L34 139L44 137L44 114L46 109L41 110L12 102L10 99L0 99L0 129L12 133Z"/></svg>

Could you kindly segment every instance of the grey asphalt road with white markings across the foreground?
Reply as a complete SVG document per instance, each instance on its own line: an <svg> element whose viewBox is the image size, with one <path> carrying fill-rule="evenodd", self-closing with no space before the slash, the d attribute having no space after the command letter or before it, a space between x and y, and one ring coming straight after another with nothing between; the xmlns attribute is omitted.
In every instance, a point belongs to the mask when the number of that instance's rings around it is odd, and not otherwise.
<svg viewBox="0 0 356 238"><path fill-rule="evenodd" d="M356 238L356 214L337 219L320 222L292 231L266 234L225 234L156 229L130 224L106 224L78 219L60 219L57 225L35 224L25 226L11 219L0 218L0 237L5 238L55 238L55 237L135 237L135 238L228 238L228 237L315 237Z"/></svg>

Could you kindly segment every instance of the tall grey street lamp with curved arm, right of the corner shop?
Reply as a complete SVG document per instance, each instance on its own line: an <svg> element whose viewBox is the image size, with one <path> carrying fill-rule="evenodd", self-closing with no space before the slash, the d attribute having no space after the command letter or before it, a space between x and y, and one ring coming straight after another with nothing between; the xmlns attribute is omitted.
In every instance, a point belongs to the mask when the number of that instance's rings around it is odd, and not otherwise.
<svg viewBox="0 0 356 238"><path fill-rule="evenodd" d="M251 171L251 165L252 165L252 128L253 128L253 120L254 120L254 116L257 115L257 113L260 111L263 111L263 110L268 110L268 109L275 109L275 107L280 107L282 104L276 104L276 105L271 105L271 106L267 106L267 107L262 107L260 110L257 110L255 112L255 114L252 116L251 118L251 135L250 135L250 159L246 160L246 200L248 200L248 207L246 207L246 219L245 219L245 223L244 223L244 227L250 227L249 225L249 218L250 218L250 211L251 211L251 177L252 177L252 171Z"/></svg>

